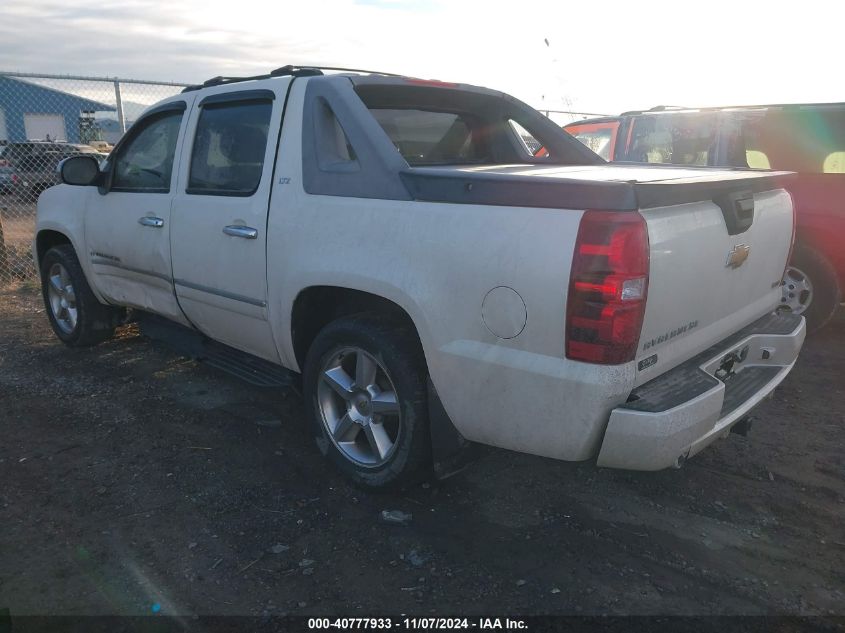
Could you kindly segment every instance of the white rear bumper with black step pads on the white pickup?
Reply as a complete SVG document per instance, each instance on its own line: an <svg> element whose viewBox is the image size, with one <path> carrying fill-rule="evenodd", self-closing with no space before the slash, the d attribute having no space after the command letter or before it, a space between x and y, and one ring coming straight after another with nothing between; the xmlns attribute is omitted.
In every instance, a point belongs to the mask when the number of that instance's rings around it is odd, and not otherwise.
<svg viewBox="0 0 845 633"><path fill-rule="evenodd" d="M610 414L598 465L661 470L682 463L774 391L795 364L804 318L770 314L634 390ZM717 377L729 354L744 358Z"/></svg>

